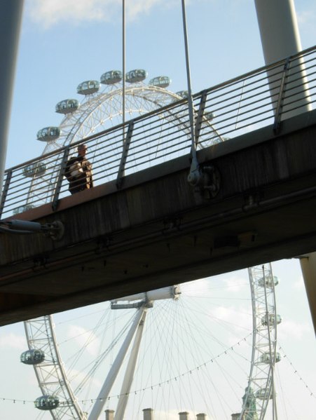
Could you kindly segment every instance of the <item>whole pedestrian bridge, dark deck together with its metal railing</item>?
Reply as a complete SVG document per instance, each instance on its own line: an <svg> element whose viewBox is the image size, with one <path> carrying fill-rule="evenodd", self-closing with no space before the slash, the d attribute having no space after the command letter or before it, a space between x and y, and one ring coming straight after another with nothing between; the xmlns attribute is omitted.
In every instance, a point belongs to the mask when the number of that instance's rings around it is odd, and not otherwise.
<svg viewBox="0 0 316 420"><path fill-rule="evenodd" d="M193 135L184 97L84 139L74 196L78 143L6 170L0 325L315 251L315 69L310 48L203 90Z"/></svg>

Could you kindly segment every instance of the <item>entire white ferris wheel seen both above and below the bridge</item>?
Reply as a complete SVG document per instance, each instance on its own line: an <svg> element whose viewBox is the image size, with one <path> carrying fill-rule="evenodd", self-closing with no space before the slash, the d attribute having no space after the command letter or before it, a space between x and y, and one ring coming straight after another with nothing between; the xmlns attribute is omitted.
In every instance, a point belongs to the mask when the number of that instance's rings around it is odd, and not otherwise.
<svg viewBox="0 0 316 420"><path fill-rule="evenodd" d="M130 83L125 90L125 111L130 118L181 100L188 94L186 91L172 93L167 90L170 83L167 76L151 79L146 85L144 83L146 72L142 69L133 70L125 77L126 81ZM98 81L85 81L77 88L77 92L83 95L81 104L74 99L59 102L56 105L56 111L64 114L60 126L43 128L37 134L38 140L46 142L43 155L102 131L109 125L120 124L123 115L121 80L121 72L107 72L101 76L101 83L104 85L102 91L100 91ZM166 118L170 118L170 116L166 116ZM212 125L210 121L211 118L207 119L206 123ZM172 118L170 118L170 123L172 124ZM187 129L184 124L183 129ZM214 133L216 133L215 128ZM215 136L212 141L222 140L220 136ZM36 184L39 182L43 185L43 201L48 198L45 187L46 184L51 183L50 177L46 178L46 174L49 173L49 171L47 172L48 166L49 162L44 161L43 168L45 170L43 171L39 168L29 168L29 176L33 177L32 187L29 191L30 198L32 198L33 189L37 188ZM37 188L36 191L38 196L39 189ZM227 415L236 411L234 405L224 408L224 405L228 404L223 402L223 395L220 396L220 393L227 392L223 389L234 381L234 375L230 372L233 372L238 366L238 370L243 374L242 382L235 383L233 386L229 385L231 395L235 395L238 400L236 406L239 409L237 409L235 418L242 419L247 415L246 418L249 420L264 419L268 407L272 405L273 410L276 410L273 372L275 363L280 360L280 355L276 352L276 331L277 324L281 321L280 316L276 313L275 305L277 281L277 278L273 276L270 264L249 269L250 287L249 284L246 287L248 293L250 290L250 297L246 300L250 309L240 309L241 312L247 313L247 320L244 320L247 327L245 325L236 327L225 320L227 308L225 309L223 306L222 316L213 314L212 317L214 324L221 325L222 330L217 336L212 333L213 327L210 329L206 327L207 321L205 320L209 320L209 313L204 313L205 318L199 321L200 325L198 325L199 322L193 323L195 317L199 320L202 316L198 302L204 300L206 301L205 306L207 306L207 302L209 303L207 299L214 298L214 288L218 287L221 290L219 284L217 287L214 285L212 287L212 279L209 280L208 285L208 290L212 290L211 296L203 291L200 296L195 297L197 300L195 306L193 306L194 294L188 294L186 297L182 290L186 290L187 287L194 290L195 287L198 287L196 285L201 284L199 281L190 283L188 286L182 285L180 291L179 287L174 286L167 290L151 292L146 297L137 295L136 297L126 297L126 302L102 304L100 305L102 314L104 313L102 319L92 322L96 323L97 327L101 327L100 336L97 336L95 330L89 332L88 327L80 332L80 327L77 326L76 339L78 337L86 338L75 355L66 356L67 361L64 361L64 357L68 350L60 352L67 339L60 339L57 336L52 316L26 321L25 332L29 349L22 353L21 361L34 366L42 393L35 402L36 407L44 413L48 412L54 420L96 420L102 409L108 407L108 415L111 419L109 413L113 407L113 400L116 399L119 404L115 410L115 419L132 420L142 418L142 414L139 414L142 412L142 408L145 408L142 403L148 405L149 399L151 405L158 406L160 412L163 413L161 419L174 419L172 410L170 412L170 408L165 405L165 402L158 402L160 398L165 401L177 401L177 409L182 411L183 409L195 409L199 401L198 412L200 414L202 412L209 413L209 418L215 419L219 418L219 414L217 414L219 409L222 410L221 412L224 410ZM202 284L205 283L202 282ZM183 306L181 302L184 302ZM189 315L190 313L191 315ZM169 325L171 324L171 314L172 326ZM159 325L157 325L158 320L160 320ZM181 325L180 330L179 325ZM146 330L144 326L146 326ZM116 328L118 329L117 334L114 332ZM164 330L167 331L167 335ZM109 331L112 331L110 338ZM183 336L184 331L186 338ZM225 338L227 331L230 337L228 341ZM145 341L144 343L144 338L140 338L142 335L146 337L146 334L150 333L152 334L150 342ZM95 337L102 337L102 341L104 341L106 336L107 345L100 348L95 353L93 360L86 363L87 366L85 366L81 360L85 360L87 352L93 353L93 344L91 343L100 341ZM209 348L205 337L209 337L212 348ZM74 339L74 337L72 338ZM135 344L132 346L133 338ZM202 341L199 342L201 339ZM162 344L166 346L163 347ZM242 351L237 351L236 346L242 348ZM112 355L112 351L116 347L119 348L116 350L119 356ZM130 347L132 347L130 350L131 361L125 362L123 353L124 355L128 353ZM148 351L151 353L150 361L146 360L144 356ZM166 358L167 355L169 358ZM226 367L222 367L218 360L223 360L226 356L229 356L229 361ZM110 362L109 357L111 358ZM136 363L137 360L138 363ZM75 361L78 361L79 365L82 363L81 367L75 367ZM107 368L103 367L102 376L110 377L104 382L104 385L102 385L102 379L97 377L99 371L102 370L102 363L107 364ZM111 366L115 365L120 370L119 368L123 365L121 368L123 370L124 363L127 363L126 369L130 373L125 378L121 377L124 385L119 389L116 388L116 381L119 382L120 374L116 372L114 375ZM141 367L139 367L139 363ZM214 370L209 370L209 366L212 366L212 369L216 366L217 370L221 372L219 373L221 385L212 380ZM142 377L139 373L141 370ZM110 373L107 375L104 373L106 371ZM200 375L202 379L200 379ZM114 381L114 376L116 381ZM192 382L193 376L195 376L195 382ZM132 377L134 377L134 381L131 381ZM179 385L178 387L174 386L176 383L177 386ZM209 395L209 384L212 384L214 392L217 393L218 404L213 402L214 398ZM222 387L222 390L215 391L217 387ZM191 391L187 391L190 388ZM193 398L191 395L192 388L195 388L197 402L193 401L195 397ZM196 395L197 389L198 396ZM203 393L206 396L202 395ZM183 395L186 395L186 400L192 400L190 404L184 401ZM138 402L132 402L132 408L130 407L131 396L134 397L134 401L138 400ZM211 402L207 402L207 400ZM174 405L171 406L174 410ZM200 416L200 419L202 418Z"/></svg>

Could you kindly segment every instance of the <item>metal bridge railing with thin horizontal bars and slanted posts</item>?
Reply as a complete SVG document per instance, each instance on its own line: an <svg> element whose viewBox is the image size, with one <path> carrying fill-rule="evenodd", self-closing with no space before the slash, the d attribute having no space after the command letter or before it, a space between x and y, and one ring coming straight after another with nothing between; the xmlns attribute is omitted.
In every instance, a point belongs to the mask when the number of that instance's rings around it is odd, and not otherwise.
<svg viewBox="0 0 316 420"><path fill-rule="evenodd" d="M273 125L312 109L316 100L316 47L273 65L236 77L193 95L194 144L197 149ZM151 111L83 139L88 146L94 184L125 176L189 156L192 139L186 99ZM78 144L69 144L5 172L0 216L52 203L69 195L65 163L77 154Z"/></svg>

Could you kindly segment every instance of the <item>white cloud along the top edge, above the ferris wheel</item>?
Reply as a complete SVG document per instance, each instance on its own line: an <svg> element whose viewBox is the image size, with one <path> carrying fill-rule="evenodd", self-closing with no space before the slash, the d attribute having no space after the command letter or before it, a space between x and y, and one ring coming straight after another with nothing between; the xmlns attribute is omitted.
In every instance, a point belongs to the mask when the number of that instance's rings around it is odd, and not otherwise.
<svg viewBox="0 0 316 420"><path fill-rule="evenodd" d="M154 6L164 0L134 0L126 2L126 16L135 20L139 15L149 13ZM168 7L177 4L174 0L168 2ZM78 25L82 22L111 22L115 18L121 20L121 0L29 0L28 13L30 18L43 29L48 29L61 22L68 25Z"/></svg>

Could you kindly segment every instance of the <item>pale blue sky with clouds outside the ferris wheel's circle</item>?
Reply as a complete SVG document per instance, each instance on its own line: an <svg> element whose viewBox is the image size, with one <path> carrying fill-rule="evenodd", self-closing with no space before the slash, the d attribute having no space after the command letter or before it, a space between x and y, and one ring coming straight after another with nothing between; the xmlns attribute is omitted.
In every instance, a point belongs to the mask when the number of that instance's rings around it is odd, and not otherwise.
<svg viewBox="0 0 316 420"><path fill-rule="evenodd" d="M170 90L187 89L181 1L130 0L126 4L127 71L146 69L148 79L170 76ZM302 48L314 46L315 0L296 0L296 12ZM254 1L186 1L186 17L193 93L264 65ZM36 140L36 133L60 124L62 118L55 113L57 102L73 97L80 100L76 94L79 83L121 67L121 1L25 0L6 168L43 153L45 144ZM275 262L273 272L281 279L277 308L282 313L278 337L284 367L280 368L278 392L283 408L279 418L314 420L315 334L299 262ZM229 273L218 281L228 285L236 278L247 283L247 271ZM234 305L237 292L231 297ZM223 298L222 319L231 322L233 315L228 309L232 307ZM209 315L209 309L203 310ZM81 318L76 323L69 321L73 319L70 313L58 314L57 319L57 325L74 325L73 335L82 327ZM40 395L34 372L19 362L20 353L27 348L23 328L17 323L0 329L1 377L5 378L0 384L0 419L37 418L30 402ZM43 416L49 418L48 414Z"/></svg>

